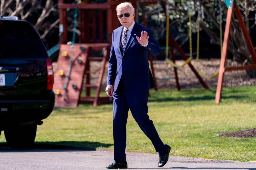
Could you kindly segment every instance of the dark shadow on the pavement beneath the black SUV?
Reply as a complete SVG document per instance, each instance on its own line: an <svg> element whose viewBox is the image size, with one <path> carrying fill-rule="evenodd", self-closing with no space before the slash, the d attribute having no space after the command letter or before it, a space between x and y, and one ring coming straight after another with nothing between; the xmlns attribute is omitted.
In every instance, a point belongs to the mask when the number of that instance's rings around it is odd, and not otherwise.
<svg viewBox="0 0 256 170"><path fill-rule="evenodd" d="M80 147L77 147L80 146ZM11 149L7 143L0 143L1 152L76 152L94 151L98 147L113 146L111 143L88 142L88 141L60 141L60 142L35 142L29 149Z"/></svg>

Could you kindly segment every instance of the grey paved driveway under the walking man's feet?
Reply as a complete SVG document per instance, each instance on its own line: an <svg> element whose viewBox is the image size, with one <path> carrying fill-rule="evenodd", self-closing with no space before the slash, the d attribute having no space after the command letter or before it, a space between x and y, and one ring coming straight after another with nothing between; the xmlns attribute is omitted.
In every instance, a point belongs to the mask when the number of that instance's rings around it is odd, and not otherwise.
<svg viewBox="0 0 256 170"><path fill-rule="evenodd" d="M256 162L219 161L170 156L162 168L157 154L126 153L128 169L225 169L256 170ZM36 144L33 149L11 150L0 146L0 169L106 169L113 162L113 151L80 147Z"/></svg>

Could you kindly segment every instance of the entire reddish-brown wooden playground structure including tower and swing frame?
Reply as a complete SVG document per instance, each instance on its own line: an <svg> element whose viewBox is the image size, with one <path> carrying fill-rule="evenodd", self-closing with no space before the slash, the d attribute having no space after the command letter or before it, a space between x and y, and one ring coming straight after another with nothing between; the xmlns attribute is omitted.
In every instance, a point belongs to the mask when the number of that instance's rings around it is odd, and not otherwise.
<svg viewBox="0 0 256 170"><path fill-rule="evenodd" d="M103 74L105 72L105 65L109 59L109 49L112 39L112 31L120 26L120 22L116 16L116 6L125 1L113 1L107 0L106 3L89 3L89 0L85 0L82 4L68 4L64 3L64 0L60 0L58 4L59 8L59 17L60 17L60 26L63 28L63 32L60 37L60 52L58 58L58 72L55 73L55 83L54 83L54 91L56 93L56 104L57 107L76 107L80 103L93 103L94 106L97 104L105 104L109 103L111 98L109 97L100 97L100 90L102 85ZM149 4L157 4L160 0L148 0L142 1L132 0L130 1L135 9L138 9L139 6L149 5ZM161 1L163 4L163 8L166 14L166 2ZM226 2L226 1L225 1ZM234 3L234 4L233 4ZM227 4L227 3L226 3ZM227 4L228 6L229 4ZM229 6L228 6L229 7ZM77 9L78 10L78 25L79 25L79 42L73 45L67 45L68 42L68 14L67 9ZM233 14L233 10L235 9L236 16L240 23L240 26L243 30L243 34L245 36L248 48L252 54L252 58L254 61L254 65L251 66L241 66L241 67L227 67L225 68L225 60L227 56L227 48L229 41L229 30L231 26L231 17ZM137 19L137 15L135 15ZM142 14L142 19L144 26L147 26L146 18ZM256 69L256 55L253 49L252 42L248 35L248 32L245 28L244 21L242 19L241 13L238 9L238 6L235 4L233 0L230 8L228 9L228 16L226 20L226 29L224 34L224 43L223 50L221 55L221 63L220 63L220 71L218 78L218 86L216 92L216 103L220 102L221 98L221 90L222 90L222 82L225 71L232 70L244 70L244 69ZM174 56L174 48L177 49L179 54L184 60L188 59L188 56L184 53L179 44L174 40L171 33L168 34L168 44L170 47L170 54L172 61L175 63ZM91 56L92 51L103 51L103 57L100 56ZM70 75L67 75L68 65L70 56L74 55L72 59L72 69ZM100 72L92 72L90 69L90 61L97 60L102 61ZM153 58L149 55L149 62L151 72L155 81L154 67L153 67ZM191 71L194 72L196 77L199 79L200 83L205 89L208 89L207 84L203 81L200 74L194 68L194 66L189 62L188 66L191 68ZM97 86L91 85L90 82L90 74L99 73L98 84ZM180 90L179 79L177 74L177 68L174 67L175 79L177 89ZM84 80L84 77L86 79ZM65 84L65 78L68 78L68 86L67 89L63 89L63 85ZM85 82L85 83L83 83ZM156 83L156 81L155 81ZM81 91L83 87L86 90L85 97L81 97ZM96 95L95 97L91 97L91 88L96 87ZM155 86L155 90L157 90L157 86Z"/></svg>

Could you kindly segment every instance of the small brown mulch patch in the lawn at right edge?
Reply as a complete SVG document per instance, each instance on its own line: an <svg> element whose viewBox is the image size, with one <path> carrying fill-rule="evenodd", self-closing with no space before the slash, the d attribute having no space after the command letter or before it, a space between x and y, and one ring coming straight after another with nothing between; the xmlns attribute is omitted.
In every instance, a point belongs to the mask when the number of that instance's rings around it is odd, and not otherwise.
<svg viewBox="0 0 256 170"><path fill-rule="evenodd" d="M220 134L219 137L241 137L241 138L256 137L256 128L243 130L240 132L223 133L223 134Z"/></svg>

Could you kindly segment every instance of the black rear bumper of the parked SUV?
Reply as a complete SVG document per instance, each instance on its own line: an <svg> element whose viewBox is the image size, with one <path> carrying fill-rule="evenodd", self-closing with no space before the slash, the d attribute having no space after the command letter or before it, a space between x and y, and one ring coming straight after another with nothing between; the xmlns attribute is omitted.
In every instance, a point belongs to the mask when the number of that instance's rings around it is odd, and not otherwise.
<svg viewBox="0 0 256 170"><path fill-rule="evenodd" d="M55 93L50 92L47 100L0 100L0 128L7 124L40 121L54 109Z"/></svg>

